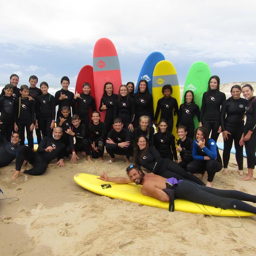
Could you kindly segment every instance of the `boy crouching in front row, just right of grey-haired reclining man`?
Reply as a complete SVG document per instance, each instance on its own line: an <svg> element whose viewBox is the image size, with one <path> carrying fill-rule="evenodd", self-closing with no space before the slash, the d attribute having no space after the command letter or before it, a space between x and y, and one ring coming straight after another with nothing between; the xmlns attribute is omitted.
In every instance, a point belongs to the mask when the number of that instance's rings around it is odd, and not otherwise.
<svg viewBox="0 0 256 256"><path fill-rule="evenodd" d="M81 124L81 119L78 115L72 116L72 127L68 128L66 133L70 136L70 146L67 147L66 153L71 154L71 162L76 163L76 159L79 157L76 155L77 151L85 152L87 155L87 160L89 163L92 161L90 145L86 136L86 126L85 124ZM74 142L74 138L76 139L76 143Z"/></svg>

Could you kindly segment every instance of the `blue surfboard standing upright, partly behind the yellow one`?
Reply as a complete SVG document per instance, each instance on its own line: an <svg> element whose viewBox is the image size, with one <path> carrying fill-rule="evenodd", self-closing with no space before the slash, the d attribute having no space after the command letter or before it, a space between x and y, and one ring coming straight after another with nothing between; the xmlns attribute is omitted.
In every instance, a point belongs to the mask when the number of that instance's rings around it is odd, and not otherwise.
<svg viewBox="0 0 256 256"><path fill-rule="evenodd" d="M164 61L164 55L161 52L151 52L148 57L145 59L144 64L140 70L140 75L138 77L135 93L137 93L139 82L142 79L145 79L148 82L149 93L152 94L152 79L153 72L156 64L160 61Z"/></svg>

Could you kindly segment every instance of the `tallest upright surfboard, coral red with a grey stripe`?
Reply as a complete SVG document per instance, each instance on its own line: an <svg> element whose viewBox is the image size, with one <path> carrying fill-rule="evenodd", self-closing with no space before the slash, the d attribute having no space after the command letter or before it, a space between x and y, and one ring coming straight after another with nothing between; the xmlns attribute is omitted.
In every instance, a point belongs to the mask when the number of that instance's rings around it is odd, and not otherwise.
<svg viewBox="0 0 256 256"><path fill-rule="evenodd" d="M93 77L96 108L99 109L100 100L103 95L104 84L113 84L113 93L118 94L122 84L121 70L116 47L108 38L101 38L96 41L93 49ZM101 119L104 122L105 111L101 112Z"/></svg>

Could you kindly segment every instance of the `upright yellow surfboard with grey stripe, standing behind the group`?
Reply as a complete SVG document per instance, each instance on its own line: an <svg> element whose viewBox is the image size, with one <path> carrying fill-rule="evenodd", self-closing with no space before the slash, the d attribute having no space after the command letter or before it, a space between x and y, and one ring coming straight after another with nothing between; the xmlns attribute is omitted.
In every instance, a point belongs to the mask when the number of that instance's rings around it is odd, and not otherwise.
<svg viewBox="0 0 256 256"><path fill-rule="evenodd" d="M178 106L180 106L180 86L177 77L177 72L172 62L170 61L160 61L154 68L153 73L153 81L152 81L152 96L153 96L153 105L154 112L157 109L157 102L160 98L163 98L162 87L165 84L172 85L172 97L177 100ZM176 122L177 122L177 114L172 111L173 115L173 128L172 134L175 136L175 140L179 139L176 131ZM160 120L161 112L158 115L157 123Z"/></svg>

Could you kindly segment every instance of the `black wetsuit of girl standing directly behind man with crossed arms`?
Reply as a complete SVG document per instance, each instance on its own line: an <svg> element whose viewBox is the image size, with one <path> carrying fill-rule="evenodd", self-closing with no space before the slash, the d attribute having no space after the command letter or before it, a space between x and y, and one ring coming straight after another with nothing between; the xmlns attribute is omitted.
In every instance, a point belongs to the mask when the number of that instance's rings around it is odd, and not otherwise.
<svg viewBox="0 0 256 256"><path fill-rule="evenodd" d="M134 122L135 105L134 99L131 97L127 99L127 96L121 97L121 100L117 99L114 103L114 119L117 117L122 119L124 128L128 129L130 124Z"/></svg>

